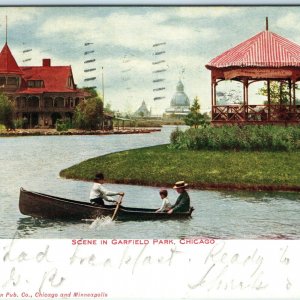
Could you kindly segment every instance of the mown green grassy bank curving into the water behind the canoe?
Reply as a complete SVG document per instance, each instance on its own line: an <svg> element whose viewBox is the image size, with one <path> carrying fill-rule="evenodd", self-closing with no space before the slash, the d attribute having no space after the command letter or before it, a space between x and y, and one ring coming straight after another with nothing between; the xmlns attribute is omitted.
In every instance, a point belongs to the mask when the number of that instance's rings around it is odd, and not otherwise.
<svg viewBox="0 0 300 300"><path fill-rule="evenodd" d="M185 180L200 189L300 191L299 156L300 151L192 151L163 145L89 159L60 175L92 180L103 172L115 183L172 186Z"/></svg>

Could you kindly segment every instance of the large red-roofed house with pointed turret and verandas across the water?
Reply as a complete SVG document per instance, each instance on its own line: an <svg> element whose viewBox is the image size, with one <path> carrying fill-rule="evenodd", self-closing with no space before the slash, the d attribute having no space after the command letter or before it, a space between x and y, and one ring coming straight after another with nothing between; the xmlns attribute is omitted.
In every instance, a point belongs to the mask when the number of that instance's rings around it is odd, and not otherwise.
<svg viewBox="0 0 300 300"><path fill-rule="evenodd" d="M0 53L0 91L14 101L15 118L26 126L54 126L57 119L72 119L74 108L84 99L76 87L71 66L18 66L5 43Z"/></svg>

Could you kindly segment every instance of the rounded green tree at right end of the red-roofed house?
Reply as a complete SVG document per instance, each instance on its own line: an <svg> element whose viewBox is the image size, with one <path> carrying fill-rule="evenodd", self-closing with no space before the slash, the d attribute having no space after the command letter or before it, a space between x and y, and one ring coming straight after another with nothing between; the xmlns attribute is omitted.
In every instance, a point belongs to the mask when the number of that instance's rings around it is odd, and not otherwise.
<svg viewBox="0 0 300 300"><path fill-rule="evenodd" d="M96 95L96 96L95 96ZM103 102L98 94L87 97L76 106L74 127L84 130L96 130L101 127L103 117Z"/></svg>

